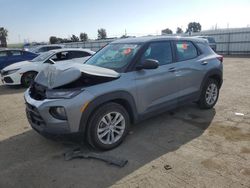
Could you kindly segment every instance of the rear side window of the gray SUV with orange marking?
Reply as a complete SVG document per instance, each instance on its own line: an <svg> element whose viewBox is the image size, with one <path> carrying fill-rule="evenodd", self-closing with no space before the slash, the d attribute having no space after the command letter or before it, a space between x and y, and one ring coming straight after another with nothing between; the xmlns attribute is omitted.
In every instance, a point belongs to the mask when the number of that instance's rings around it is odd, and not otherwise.
<svg viewBox="0 0 250 188"><path fill-rule="evenodd" d="M177 58L178 61L185 61L193 59L198 56L196 47L192 42L179 41L176 42Z"/></svg>

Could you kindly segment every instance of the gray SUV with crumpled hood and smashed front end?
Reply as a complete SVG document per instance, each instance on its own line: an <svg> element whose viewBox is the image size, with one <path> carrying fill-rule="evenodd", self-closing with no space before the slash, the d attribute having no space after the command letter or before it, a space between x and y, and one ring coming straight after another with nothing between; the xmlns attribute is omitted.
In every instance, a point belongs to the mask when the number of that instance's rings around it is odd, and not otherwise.
<svg viewBox="0 0 250 188"><path fill-rule="evenodd" d="M85 64L48 66L25 92L27 118L39 133L81 133L107 150L130 124L186 102L212 108L222 85L223 58L204 39L117 40Z"/></svg>

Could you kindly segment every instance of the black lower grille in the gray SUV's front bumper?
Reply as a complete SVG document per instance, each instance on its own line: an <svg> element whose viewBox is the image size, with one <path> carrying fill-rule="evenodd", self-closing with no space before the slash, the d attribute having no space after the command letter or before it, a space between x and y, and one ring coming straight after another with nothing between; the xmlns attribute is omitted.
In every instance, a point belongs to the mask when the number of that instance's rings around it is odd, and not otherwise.
<svg viewBox="0 0 250 188"><path fill-rule="evenodd" d="M43 118L40 116L35 106L26 103L26 114L29 122L37 126L45 126Z"/></svg>

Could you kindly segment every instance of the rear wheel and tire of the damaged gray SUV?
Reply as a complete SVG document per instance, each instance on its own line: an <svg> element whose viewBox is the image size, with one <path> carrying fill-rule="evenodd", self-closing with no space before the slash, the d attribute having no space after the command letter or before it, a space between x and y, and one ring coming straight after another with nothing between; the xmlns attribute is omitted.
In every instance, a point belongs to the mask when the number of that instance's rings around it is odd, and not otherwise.
<svg viewBox="0 0 250 188"><path fill-rule="evenodd" d="M213 108L219 98L219 84L215 79L209 78L202 91L198 102L201 109Z"/></svg>

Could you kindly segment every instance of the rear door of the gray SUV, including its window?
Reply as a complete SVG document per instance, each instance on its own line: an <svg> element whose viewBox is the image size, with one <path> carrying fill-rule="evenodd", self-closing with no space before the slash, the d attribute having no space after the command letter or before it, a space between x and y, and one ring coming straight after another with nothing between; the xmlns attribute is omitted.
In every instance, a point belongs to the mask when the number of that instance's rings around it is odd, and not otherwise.
<svg viewBox="0 0 250 188"><path fill-rule="evenodd" d="M191 41L176 41L175 75L180 83L179 100L196 98L204 77L205 64L201 52Z"/></svg>

